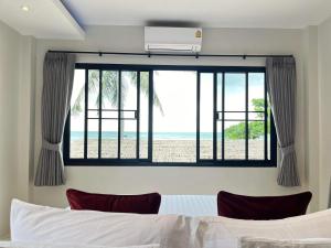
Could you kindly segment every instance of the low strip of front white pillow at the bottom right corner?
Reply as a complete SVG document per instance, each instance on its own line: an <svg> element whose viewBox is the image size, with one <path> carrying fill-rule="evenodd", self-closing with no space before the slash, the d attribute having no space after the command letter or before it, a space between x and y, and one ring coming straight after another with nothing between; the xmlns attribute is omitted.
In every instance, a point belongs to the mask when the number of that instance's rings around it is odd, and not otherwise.
<svg viewBox="0 0 331 248"><path fill-rule="evenodd" d="M330 248L331 239L311 238L295 240L276 240L266 238L241 238L238 248Z"/></svg>

